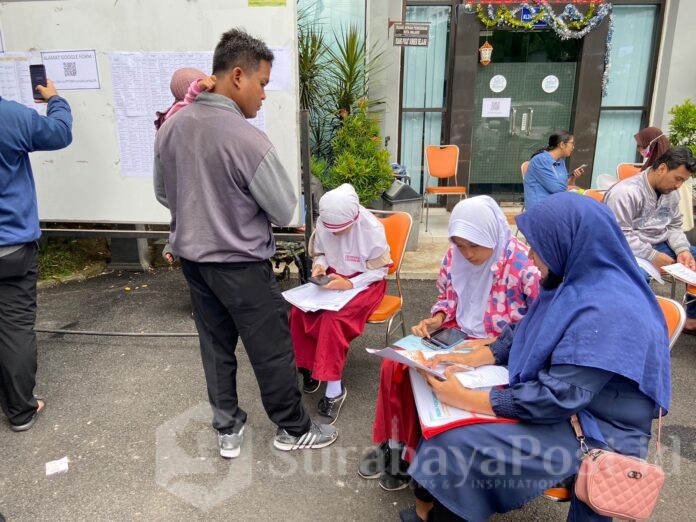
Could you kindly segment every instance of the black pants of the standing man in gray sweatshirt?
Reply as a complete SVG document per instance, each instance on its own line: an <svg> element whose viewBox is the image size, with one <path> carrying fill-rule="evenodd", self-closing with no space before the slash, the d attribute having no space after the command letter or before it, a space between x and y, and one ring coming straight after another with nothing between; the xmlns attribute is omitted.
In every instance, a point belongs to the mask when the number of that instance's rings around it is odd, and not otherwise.
<svg viewBox="0 0 696 522"><path fill-rule="evenodd" d="M237 399L241 336L268 417L292 435L310 420L297 387L287 305L269 261L195 263L181 260L191 290L213 427L229 430L246 422Z"/></svg>

